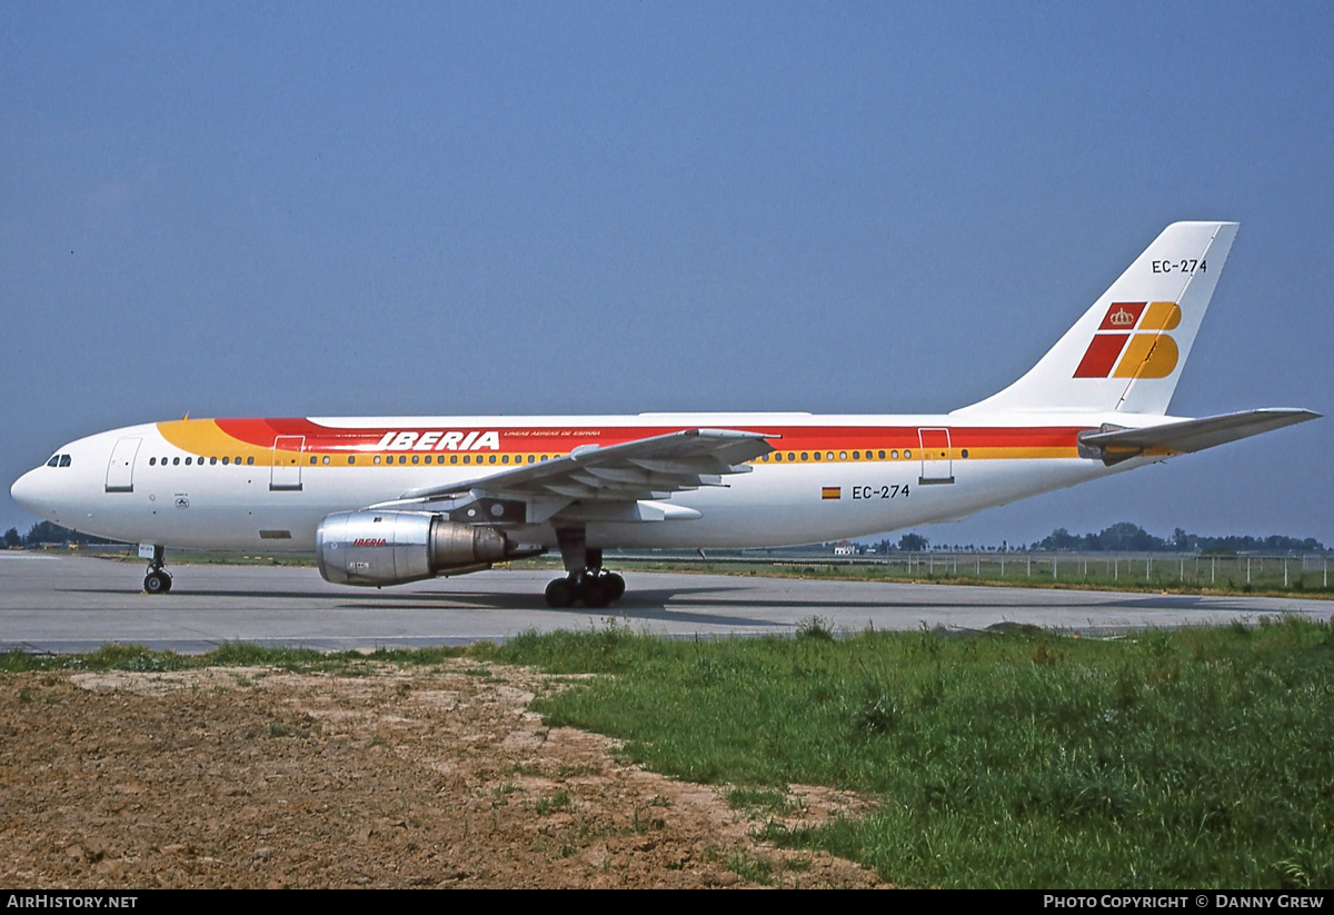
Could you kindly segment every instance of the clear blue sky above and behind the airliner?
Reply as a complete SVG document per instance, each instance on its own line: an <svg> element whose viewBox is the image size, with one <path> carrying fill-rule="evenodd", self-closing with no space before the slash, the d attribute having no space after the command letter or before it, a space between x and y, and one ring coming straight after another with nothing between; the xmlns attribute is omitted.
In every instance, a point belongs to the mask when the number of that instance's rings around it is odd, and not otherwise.
<svg viewBox="0 0 1334 915"><path fill-rule="evenodd" d="M1173 401L1330 412L1327 4L0 5L8 482L247 415L938 412L1169 223ZM927 528L1334 544L1334 420Z"/></svg>

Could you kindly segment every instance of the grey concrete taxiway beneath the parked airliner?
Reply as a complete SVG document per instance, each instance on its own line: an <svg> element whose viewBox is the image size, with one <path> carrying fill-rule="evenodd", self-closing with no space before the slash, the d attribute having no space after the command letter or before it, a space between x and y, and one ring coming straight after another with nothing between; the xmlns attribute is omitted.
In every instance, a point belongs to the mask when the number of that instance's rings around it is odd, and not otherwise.
<svg viewBox="0 0 1334 915"><path fill-rule="evenodd" d="M171 594L139 591L137 564L0 552L0 650L89 651L108 642L180 652L223 642L376 648L503 640L527 630L595 628L615 619L671 636L783 635L818 616L858 632L1031 623L1077 631L1206 626L1263 615L1326 620L1334 603L1307 598L1198 596L816 582L627 572L611 610L550 610L555 576L500 570L396 588L328 584L313 568L171 566Z"/></svg>

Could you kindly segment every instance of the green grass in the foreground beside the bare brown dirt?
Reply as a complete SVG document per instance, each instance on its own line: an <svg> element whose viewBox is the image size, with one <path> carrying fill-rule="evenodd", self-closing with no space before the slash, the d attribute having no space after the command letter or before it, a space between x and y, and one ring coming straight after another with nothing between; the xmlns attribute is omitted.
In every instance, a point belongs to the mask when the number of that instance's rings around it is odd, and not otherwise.
<svg viewBox="0 0 1334 915"><path fill-rule="evenodd" d="M471 648L320 654L229 644L0 655L0 670L275 666L358 674L466 656L594 674L536 703L650 768L731 787L766 836L900 886L1334 886L1334 627L1297 618L1099 640L1009 627L671 642L608 624ZM471 672L470 670L470 672ZM16 702L31 695L13 694ZM269 736L300 736L275 722ZM774 822L792 783L879 798L863 819ZM503 798L496 798L498 803ZM650 806L652 806L650 803ZM542 815L570 810L540 798ZM636 828L656 828L644 807ZM760 882L750 859L728 859Z"/></svg>

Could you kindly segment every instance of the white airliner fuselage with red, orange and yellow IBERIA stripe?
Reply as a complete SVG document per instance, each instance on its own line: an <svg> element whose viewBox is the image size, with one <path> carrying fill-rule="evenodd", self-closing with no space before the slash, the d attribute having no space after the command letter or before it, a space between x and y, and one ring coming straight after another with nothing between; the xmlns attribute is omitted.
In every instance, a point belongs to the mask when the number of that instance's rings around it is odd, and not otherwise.
<svg viewBox="0 0 1334 915"><path fill-rule="evenodd" d="M618 547L774 547L963 518L1163 456L1113 467L1075 436L1165 416L958 415L358 417L177 420L72 441L13 486L20 504L77 531L175 548L313 550L320 520L418 490L687 428L764 433L776 449L722 486L672 492L692 511L591 520L587 542ZM64 464L64 466L61 466ZM698 512L698 516L695 514ZM512 526L556 546L550 522Z"/></svg>

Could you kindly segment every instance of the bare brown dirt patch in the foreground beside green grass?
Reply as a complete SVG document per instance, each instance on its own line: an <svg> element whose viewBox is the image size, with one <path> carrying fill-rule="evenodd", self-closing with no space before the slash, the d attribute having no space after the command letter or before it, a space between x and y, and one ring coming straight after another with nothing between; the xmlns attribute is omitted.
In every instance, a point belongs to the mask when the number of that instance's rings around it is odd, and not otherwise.
<svg viewBox="0 0 1334 915"><path fill-rule="evenodd" d="M759 842L762 815L716 788L544 727L528 704L552 688L475 662L4 676L0 883L879 886L848 862ZM818 822L864 806L794 788L788 808Z"/></svg>

